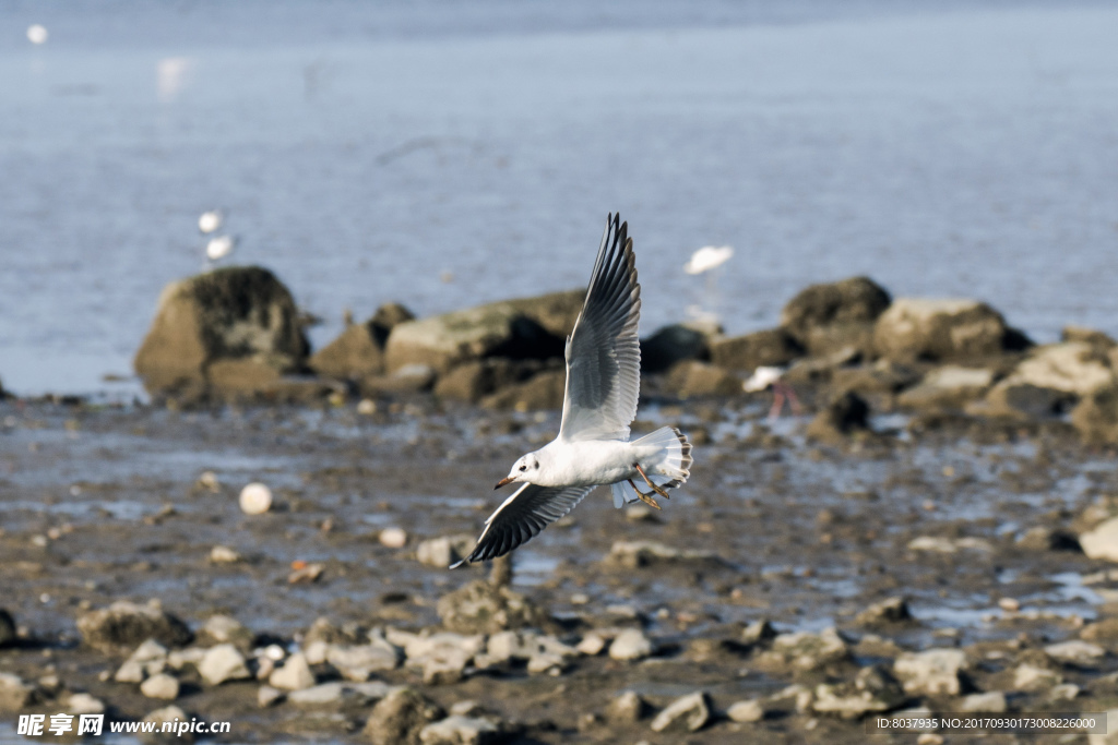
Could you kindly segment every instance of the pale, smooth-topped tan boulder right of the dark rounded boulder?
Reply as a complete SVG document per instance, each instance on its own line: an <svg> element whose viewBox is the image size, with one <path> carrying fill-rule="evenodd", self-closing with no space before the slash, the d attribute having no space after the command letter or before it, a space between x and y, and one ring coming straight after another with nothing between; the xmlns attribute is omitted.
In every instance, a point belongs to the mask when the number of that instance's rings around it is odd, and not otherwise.
<svg viewBox="0 0 1118 745"><path fill-rule="evenodd" d="M965 298L893 300L873 329L878 354L890 360L965 361L1031 346L1002 314Z"/></svg>

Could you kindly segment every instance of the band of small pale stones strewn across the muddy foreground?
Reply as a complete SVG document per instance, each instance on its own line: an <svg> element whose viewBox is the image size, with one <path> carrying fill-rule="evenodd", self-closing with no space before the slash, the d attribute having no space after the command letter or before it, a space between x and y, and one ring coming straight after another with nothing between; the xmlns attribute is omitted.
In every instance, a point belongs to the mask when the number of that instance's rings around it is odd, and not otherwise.
<svg viewBox="0 0 1118 745"><path fill-rule="evenodd" d="M473 583L473 585L484 583ZM1077 698L1095 695L1068 677L1107 665L1118 644L1112 619L1082 625L1079 638L1033 646L1024 637L910 650L888 636L918 625L902 598L866 608L855 630L779 633L765 620L721 636L692 639L685 647L661 643L639 627L595 628L551 633L534 610L498 618L492 608L476 612L479 598L498 598L467 585L443 598L444 627L408 631L390 625L334 625L319 619L302 634L283 640L257 634L228 615L214 615L197 631L158 602L117 602L78 618L88 647L115 658L101 680L134 687L160 701L146 720L188 719L178 705L191 690L255 686L260 707L297 710L337 709L363 718L373 743L501 743L524 730L472 700L445 707L436 688L474 676L563 676L584 665L638 665L657 655L682 655L697 662L741 660L786 686L740 700L713 698L697 689L666 700L624 690L586 713L577 723L588 732L646 722L655 733L697 732L717 723L756 725L790 714L856 720L902 711L1005 713L1057 706L1076 708ZM513 593L514 594L514 593ZM510 599L492 601L508 606ZM520 606L531 603L520 599ZM475 612L459 606L472 606ZM463 619L470 618L468 623ZM480 619L486 624L482 628ZM455 628L466 630L453 630ZM728 636L729 634L729 636ZM11 617L0 611L0 647L17 641ZM950 643L950 639L948 639ZM601 658L603 662L594 662ZM1100 678L1107 686L1112 676ZM0 710L58 709L70 714L113 713L111 703L72 690L57 676L23 680L0 674ZM192 713L205 715L205 711Z"/></svg>

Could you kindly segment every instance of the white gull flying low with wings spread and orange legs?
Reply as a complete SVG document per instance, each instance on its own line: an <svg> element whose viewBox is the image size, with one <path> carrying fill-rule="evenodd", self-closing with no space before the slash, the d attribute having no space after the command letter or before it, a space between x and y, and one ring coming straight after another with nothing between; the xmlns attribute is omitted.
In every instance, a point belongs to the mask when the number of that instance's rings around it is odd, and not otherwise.
<svg viewBox="0 0 1118 745"><path fill-rule="evenodd" d="M601 236L582 312L567 337L567 390L559 437L521 457L496 488L523 484L485 520L467 562L503 556L556 522L597 486L609 485L614 507L637 498L660 509L653 494L690 476L691 443L673 427L629 441L641 392L641 285L628 223L610 214ZM641 491L634 479L650 488Z"/></svg>

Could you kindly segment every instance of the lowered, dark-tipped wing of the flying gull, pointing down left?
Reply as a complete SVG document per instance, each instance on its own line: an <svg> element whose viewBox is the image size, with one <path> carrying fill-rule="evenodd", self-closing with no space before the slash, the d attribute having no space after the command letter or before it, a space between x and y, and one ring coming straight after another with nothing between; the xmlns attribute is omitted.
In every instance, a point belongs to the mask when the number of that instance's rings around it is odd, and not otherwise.
<svg viewBox="0 0 1118 745"><path fill-rule="evenodd" d="M593 486L557 488L525 484L490 515L474 550L451 569L505 555L574 509L593 488Z"/></svg>

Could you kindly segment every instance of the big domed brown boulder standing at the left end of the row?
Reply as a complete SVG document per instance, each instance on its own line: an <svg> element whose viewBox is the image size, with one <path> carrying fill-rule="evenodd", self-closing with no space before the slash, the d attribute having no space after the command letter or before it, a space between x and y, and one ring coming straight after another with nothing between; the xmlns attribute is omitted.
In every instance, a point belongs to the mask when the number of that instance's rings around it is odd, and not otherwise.
<svg viewBox="0 0 1118 745"><path fill-rule="evenodd" d="M271 384L302 369L307 351L283 283L260 267L228 267L163 289L134 364L151 393L202 395Z"/></svg>

